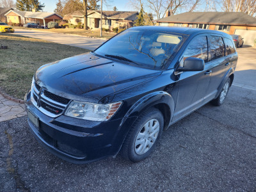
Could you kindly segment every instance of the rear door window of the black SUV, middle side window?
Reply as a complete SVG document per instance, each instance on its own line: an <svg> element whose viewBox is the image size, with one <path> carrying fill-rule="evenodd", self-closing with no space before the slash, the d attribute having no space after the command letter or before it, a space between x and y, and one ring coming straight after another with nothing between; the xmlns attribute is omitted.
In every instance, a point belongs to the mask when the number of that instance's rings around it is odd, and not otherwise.
<svg viewBox="0 0 256 192"><path fill-rule="evenodd" d="M210 36L211 60L224 56L224 43L221 36Z"/></svg>

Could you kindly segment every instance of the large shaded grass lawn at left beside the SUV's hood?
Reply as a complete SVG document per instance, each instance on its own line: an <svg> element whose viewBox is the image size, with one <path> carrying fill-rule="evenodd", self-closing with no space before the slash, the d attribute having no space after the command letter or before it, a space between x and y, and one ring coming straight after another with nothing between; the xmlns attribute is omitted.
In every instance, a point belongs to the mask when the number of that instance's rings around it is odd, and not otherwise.
<svg viewBox="0 0 256 192"><path fill-rule="evenodd" d="M0 49L0 87L18 99L24 99L38 67L89 51L3 33L0 35L0 45L8 46L8 49Z"/></svg>

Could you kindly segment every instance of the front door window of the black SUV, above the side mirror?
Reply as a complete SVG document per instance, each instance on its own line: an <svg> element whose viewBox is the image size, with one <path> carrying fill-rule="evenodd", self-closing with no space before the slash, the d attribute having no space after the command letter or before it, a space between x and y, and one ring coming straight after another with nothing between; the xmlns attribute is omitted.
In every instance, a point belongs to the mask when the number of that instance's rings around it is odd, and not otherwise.
<svg viewBox="0 0 256 192"><path fill-rule="evenodd" d="M183 54L183 60L186 58L200 58L204 60L205 63L208 61L208 45L206 36L198 36L193 38L189 43L186 51Z"/></svg>

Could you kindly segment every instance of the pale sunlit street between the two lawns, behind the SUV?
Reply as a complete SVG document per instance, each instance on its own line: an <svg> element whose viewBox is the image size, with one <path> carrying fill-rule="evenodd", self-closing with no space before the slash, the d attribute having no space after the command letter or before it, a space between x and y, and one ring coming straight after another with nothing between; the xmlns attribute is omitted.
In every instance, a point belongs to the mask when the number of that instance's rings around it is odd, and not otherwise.
<svg viewBox="0 0 256 192"><path fill-rule="evenodd" d="M58 44L80 47L83 49L94 50L106 40L100 38L89 38L79 35L68 35L63 33L53 33L49 31L38 31L28 29L15 29L15 35L29 36L40 38Z"/></svg>

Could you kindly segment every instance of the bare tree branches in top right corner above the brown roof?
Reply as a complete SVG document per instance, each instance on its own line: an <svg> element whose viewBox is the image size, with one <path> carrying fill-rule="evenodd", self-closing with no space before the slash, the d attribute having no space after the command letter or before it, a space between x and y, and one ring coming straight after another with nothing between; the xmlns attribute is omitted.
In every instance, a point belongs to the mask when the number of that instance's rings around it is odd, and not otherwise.
<svg viewBox="0 0 256 192"><path fill-rule="evenodd" d="M256 16L256 0L221 0L225 12L243 12Z"/></svg>

